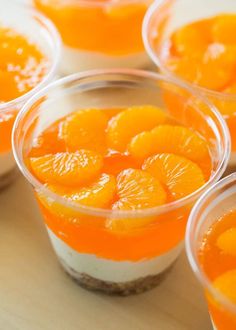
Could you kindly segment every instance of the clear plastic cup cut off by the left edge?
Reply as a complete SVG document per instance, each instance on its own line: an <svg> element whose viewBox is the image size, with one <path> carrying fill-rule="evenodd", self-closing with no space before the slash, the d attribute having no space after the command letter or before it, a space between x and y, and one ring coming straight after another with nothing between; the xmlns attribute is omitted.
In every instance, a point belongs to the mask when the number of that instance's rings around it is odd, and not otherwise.
<svg viewBox="0 0 236 330"><path fill-rule="evenodd" d="M11 131L23 104L54 77L59 62L60 37L51 22L35 10L12 2L0 3L0 24L13 28L33 42L49 59L48 72L35 88L9 102L0 103L0 189L17 173L11 151Z"/></svg>

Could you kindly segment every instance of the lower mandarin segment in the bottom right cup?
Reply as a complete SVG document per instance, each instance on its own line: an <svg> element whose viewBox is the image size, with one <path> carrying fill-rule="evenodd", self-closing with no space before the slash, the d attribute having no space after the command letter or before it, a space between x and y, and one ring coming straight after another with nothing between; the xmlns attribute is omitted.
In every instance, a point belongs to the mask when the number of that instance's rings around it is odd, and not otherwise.
<svg viewBox="0 0 236 330"><path fill-rule="evenodd" d="M228 271L217 277L213 286L234 304L236 303L236 270Z"/></svg>

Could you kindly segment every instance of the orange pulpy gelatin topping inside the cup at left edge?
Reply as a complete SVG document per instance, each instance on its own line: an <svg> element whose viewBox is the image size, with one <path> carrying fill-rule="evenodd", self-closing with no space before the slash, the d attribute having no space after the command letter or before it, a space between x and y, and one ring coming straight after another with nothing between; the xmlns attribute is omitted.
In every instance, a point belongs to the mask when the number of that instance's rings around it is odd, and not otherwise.
<svg viewBox="0 0 236 330"><path fill-rule="evenodd" d="M34 88L44 77L48 61L17 31L0 26L0 105ZM11 148L11 130L19 109L0 110L0 153Z"/></svg>

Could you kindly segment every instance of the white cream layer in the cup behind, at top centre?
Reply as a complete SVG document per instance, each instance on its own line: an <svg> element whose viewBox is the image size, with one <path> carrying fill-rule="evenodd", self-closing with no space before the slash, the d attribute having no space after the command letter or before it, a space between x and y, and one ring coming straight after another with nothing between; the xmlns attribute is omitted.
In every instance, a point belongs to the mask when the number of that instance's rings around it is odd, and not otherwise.
<svg viewBox="0 0 236 330"><path fill-rule="evenodd" d="M131 55L105 55L98 52L82 51L71 47L63 47L60 71L71 74L83 70L106 68L140 68L150 65L145 52Z"/></svg>

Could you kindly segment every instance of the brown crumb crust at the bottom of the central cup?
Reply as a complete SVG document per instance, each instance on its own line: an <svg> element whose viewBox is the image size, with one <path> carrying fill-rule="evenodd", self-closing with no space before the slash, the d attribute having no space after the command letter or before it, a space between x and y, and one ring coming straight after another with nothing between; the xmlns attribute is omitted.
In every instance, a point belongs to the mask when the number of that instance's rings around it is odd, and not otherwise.
<svg viewBox="0 0 236 330"><path fill-rule="evenodd" d="M115 283L99 280L85 273L78 273L68 266L62 259L60 259L60 263L66 273L69 274L81 287L91 291L98 291L109 295L119 296L139 294L156 287L165 279L174 266L174 264L172 264L158 275L146 276L124 283Z"/></svg>

